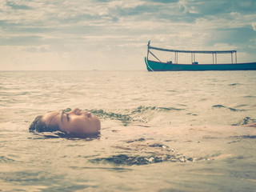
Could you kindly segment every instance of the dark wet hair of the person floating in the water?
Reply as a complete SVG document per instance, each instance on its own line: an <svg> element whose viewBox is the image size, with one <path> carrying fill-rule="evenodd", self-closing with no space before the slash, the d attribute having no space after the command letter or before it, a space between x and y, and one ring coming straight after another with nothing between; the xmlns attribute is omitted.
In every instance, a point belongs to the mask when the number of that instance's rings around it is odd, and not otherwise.
<svg viewBox="0 0 256 192"><path fill-rule="evenodd" d="M30 124L30 132L54 132L59 130L58 126L47 126L45 122L42 122L42 115L34 118L34 122Z"/></svg>

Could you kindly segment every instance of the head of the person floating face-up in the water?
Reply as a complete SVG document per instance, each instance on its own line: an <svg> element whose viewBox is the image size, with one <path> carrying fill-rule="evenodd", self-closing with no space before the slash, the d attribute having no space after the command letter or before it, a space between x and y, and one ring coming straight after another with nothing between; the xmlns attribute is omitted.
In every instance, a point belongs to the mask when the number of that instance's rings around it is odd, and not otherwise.
<svg viewBox="0 0 256 192"><path fill-rule="evenodd" d="M78 108L70 112L57 110L38 116L30 125L30 132L60 130L71 134L97 134L100 129L98 117Z"/></svg>

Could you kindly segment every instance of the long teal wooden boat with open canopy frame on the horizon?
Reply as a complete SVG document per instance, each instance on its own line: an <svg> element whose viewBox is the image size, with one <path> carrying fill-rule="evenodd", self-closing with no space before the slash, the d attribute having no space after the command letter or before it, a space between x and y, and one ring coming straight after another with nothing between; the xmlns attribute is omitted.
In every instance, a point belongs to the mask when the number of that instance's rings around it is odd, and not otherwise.
<svg viewBox="0 0 256 192"><path fill-rule="evenodd" d="M160 50L174 52L173 62L161 62L151 50ZM191 64L178 64L178 53L191 54ZM212 64L198 64L195 61L195 54L212 54ZM231 63L217 63L217 54L231 54ZM149 55L152 55L157 61L149 60ZM168 50L154 46L150 46L150 41L147 45L147 56L145 58L146 69L148 71L177 71L177 70L256 70L256 62L237 63L236 50Z"/></svg>

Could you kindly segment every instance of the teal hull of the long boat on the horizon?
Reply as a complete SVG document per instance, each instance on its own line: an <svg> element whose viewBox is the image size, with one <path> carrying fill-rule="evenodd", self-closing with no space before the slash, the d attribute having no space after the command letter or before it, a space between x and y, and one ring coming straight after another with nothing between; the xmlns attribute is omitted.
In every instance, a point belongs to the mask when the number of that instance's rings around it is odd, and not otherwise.
<svg viewBox="0 0 256 192"><path fill-rule="evenodd" d="M256 62L236 63L236 64L172 64L168 62L154 62L147 60L146 69L148 71L178 71L178 70L256 70Z"/></svg>

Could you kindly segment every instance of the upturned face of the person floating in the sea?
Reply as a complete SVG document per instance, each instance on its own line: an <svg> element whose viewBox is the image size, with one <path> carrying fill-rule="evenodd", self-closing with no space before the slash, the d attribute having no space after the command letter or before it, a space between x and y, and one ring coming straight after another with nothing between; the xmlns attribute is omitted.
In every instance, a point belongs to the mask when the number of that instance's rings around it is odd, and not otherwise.
<svg viewBox="0 0 256 192"><path fill-rule="evenodd" d="M66 133L94 134L101 129L101 122L98 117L78 108L68 113L62 110L50 112L43 115L42 121L46 125L58 126L60 130Z"/></svg>

